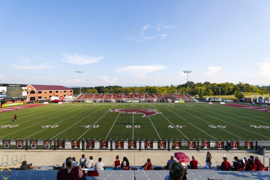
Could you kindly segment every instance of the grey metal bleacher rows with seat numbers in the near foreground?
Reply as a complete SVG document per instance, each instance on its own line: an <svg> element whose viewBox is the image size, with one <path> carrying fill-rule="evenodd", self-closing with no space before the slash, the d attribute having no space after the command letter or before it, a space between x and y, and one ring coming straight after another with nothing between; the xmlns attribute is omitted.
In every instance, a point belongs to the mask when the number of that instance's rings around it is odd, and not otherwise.
<svg viewBox="0 0 270 180"><path fill-rule="evenodd" d="M9 179L56 179L58 171L53 170L12 170ZM99 176L86 176L88 180L163 180L169 173L168 170L100 170ZM188 169L187 179L206 180L210 179L230 179L230 180L251 180L270 179L269 171L218 171L217 169Z"/></svg>

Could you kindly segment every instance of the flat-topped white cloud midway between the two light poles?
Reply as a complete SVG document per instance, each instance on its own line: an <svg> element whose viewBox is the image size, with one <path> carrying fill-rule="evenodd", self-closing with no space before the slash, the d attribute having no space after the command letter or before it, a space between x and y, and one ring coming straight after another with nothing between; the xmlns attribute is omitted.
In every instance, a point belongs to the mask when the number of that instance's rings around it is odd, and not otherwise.
<svg viewBox="0 0 270 180"><path fill-rule="evenodd" d="M148 65L148 66L127 66L118 68L116 73L126 74L128 76L136 76L138 78L145 78L147 73L154 72L156 70L166 69L168 66L163 65Z"/></svg>

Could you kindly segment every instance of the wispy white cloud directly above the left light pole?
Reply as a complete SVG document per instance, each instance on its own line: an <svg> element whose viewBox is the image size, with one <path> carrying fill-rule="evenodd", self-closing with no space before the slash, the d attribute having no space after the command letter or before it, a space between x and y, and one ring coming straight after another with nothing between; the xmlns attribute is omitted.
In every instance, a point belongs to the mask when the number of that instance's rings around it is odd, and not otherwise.
<svg viewBox="0 0 270 180"><path fill-rule="evenodd" d="M68 62L70 64L78 64L78 65L85 65L85 64L92 64L98 63L99 60L103 59L103 57L91 57L86 55L66 55L63 54L64 60L62 62Z"/></svg>

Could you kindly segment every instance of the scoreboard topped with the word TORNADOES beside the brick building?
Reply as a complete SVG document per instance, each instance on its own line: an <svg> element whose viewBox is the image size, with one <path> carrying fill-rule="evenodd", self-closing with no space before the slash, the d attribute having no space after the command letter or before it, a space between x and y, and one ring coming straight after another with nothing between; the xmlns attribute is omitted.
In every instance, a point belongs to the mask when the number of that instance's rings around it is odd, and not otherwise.
<svg viewBox="0 0 270 180"><path fill-rule="evenodd" d="M27 99L26 85L0 84L0 101Z"/></svg>

